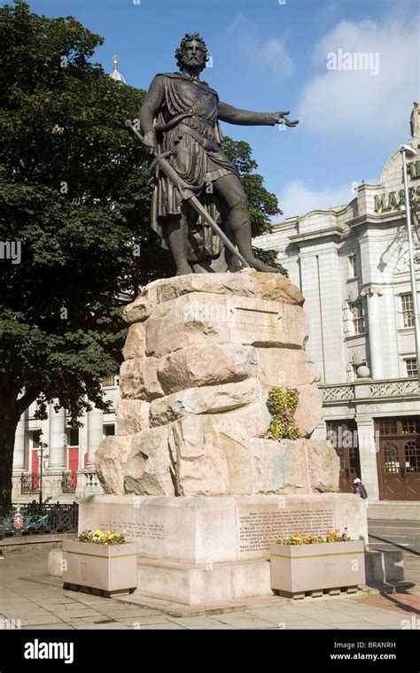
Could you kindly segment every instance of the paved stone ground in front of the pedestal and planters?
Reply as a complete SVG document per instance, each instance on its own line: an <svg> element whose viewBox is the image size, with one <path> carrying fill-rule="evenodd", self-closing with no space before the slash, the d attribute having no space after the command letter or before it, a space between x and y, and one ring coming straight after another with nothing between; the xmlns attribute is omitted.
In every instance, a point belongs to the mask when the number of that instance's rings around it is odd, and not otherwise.
<svg viewBox="0 0 420 673"><path fill-rule="evenodd" d="M198 617L173 617L47 584L19 579L46 575L48 550L10 552L0 561L0 619L22 629L333 629L401 630L420 627L420 593L325 597L276 607Z"/></svg>

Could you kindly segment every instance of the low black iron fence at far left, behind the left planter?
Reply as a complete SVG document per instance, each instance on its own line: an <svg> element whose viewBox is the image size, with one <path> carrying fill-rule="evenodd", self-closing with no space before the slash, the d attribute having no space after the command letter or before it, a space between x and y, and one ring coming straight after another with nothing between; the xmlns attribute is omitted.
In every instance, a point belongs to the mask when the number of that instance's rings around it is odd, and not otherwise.
<svg viewBox="0 0 420 673"><path fill-rule="evenodd" d="M45 503L35 500L27 505L12 507L0 517L0 538L15 535L39 533L61 533L77 531L79 506L77 503Z"/></svg>

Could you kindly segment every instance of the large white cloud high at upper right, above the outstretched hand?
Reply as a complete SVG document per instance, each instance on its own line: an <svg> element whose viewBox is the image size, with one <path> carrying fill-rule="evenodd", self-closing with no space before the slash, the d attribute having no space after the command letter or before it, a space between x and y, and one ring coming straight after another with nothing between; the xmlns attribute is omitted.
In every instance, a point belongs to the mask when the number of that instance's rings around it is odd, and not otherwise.
<svg viewBox="0 0 420 673"><path fill-rule="evenodd" d="M408 119L418 97L416 20L396 13L381 23L342 20L315 45L313 62L322 72L307 81L299 97L302 130L337 143L408 138ZM331 52L378 54L377 75L369 70L327 70ZM370 58L374 58L371 56ZM338 146L339 149L339 146Z"/></svg>

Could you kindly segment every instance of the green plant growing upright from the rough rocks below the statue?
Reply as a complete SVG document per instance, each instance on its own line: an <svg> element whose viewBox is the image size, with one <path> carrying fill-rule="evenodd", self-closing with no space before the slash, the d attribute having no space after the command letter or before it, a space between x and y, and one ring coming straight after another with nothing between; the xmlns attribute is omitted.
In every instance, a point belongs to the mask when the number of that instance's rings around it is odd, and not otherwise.
<svg viewBox="0 0 420 673"><path fill-rule="evenodd" d="M299 403L296 388L272 388L268 393L268 406L272 414L266 437L268 439L299 439L299 428L294 413Z"/></svg>

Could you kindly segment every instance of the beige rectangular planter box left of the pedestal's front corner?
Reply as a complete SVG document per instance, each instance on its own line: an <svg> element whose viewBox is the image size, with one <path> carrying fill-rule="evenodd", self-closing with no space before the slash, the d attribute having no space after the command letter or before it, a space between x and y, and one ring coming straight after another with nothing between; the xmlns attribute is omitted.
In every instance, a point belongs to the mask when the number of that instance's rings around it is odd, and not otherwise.
<svg viewBox="0 0 420 673"><path fill-rule="evenodd" d="M137 586L136 543L94 545L78 540L63 542L65 589L115 593L132 593Z"/></svg>

